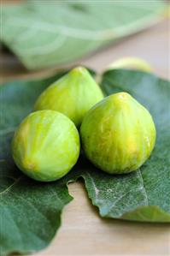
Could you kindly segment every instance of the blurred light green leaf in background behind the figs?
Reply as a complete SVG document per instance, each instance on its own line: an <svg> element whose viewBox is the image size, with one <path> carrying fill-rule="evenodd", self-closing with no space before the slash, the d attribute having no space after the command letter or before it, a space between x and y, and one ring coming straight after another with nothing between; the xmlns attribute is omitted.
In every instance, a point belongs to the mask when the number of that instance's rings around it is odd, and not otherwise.
<svg viewBox="0 0 170 256"><path fill-rule="evenodd" d="M3 6L0 39L26 68L67 63L151 26L163 1L27 1Z"/></svg>

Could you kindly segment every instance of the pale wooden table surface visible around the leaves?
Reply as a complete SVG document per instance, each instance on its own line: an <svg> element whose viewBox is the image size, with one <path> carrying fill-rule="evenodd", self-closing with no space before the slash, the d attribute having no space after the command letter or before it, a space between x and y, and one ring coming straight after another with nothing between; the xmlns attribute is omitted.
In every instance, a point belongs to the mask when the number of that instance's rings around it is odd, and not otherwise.
<svg viewBox="0 0 170 256"><path fill-rule="evenodd" d="M91 57L79 61L98 71L116 58L143 57L161 77L170 77L169 21L124 39ZM14 57L1 54L1 79L27 77L41 72L27 72ZM53 73L56 68L48 70ZM43 72L44 73L44 72ZM62 227L50 246L38 255L170 255L170 229L167 224L132 223L99 217L91 205L83 182L68 185L74 197L62 213Z"/></svg>

